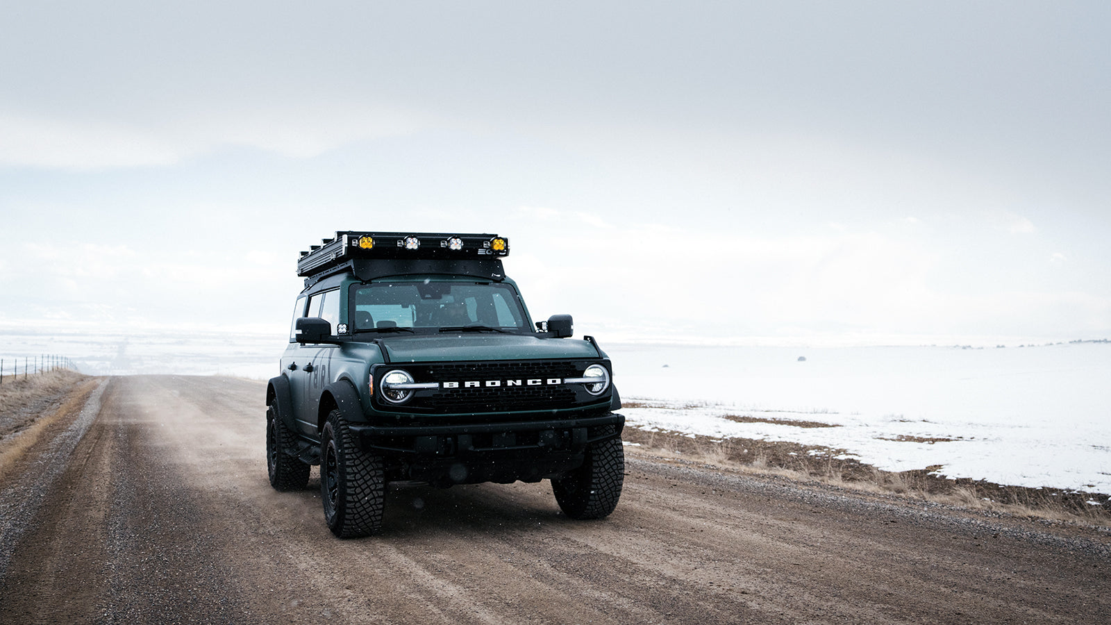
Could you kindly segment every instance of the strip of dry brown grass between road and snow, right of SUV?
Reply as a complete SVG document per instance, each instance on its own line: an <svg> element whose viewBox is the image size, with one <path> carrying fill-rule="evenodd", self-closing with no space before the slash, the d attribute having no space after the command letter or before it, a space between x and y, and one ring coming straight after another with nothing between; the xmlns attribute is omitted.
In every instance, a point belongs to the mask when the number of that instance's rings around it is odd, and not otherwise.
<svg viewBox="0 0 1111 625"><path fill-rule="evenodd" d="M625 427L622 438L663 456L687 458L739 472L818 480L868 493L927 499L1019 517L1104 526L1111 524L1111 505L1104 503L1094 506L1087 503L1093 497L1107 502L1108 495L1073 493L1060 488L1003 486L968 478L951 479L938 475L941 466L887 472L854 458L843 457L843 449L779 440L691 437L630 426Z"/></svg>

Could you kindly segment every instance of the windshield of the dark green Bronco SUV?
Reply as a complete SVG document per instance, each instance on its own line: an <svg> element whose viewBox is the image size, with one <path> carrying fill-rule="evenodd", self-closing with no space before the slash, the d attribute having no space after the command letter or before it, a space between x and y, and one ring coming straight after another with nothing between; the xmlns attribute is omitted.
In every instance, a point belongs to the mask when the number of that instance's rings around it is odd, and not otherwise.
<svg viewBox="0 0 1111 625"><path fill-rule="evenodd" d="M517 290L494 282L374 282L354 289L354 330L529 330Z"/></svg>

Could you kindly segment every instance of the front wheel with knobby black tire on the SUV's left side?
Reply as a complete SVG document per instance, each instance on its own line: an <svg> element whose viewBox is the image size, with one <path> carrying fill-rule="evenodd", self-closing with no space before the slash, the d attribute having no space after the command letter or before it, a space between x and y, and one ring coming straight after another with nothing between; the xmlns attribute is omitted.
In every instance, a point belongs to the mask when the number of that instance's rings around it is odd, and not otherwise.
<svg viewBox="0 0 1111 625"><path fill-rule="evenodd" d="M382 528L386 470L382 459L361 452L339 410L332 410L320 442L320 498L332 534L354 538Z"/></svg>

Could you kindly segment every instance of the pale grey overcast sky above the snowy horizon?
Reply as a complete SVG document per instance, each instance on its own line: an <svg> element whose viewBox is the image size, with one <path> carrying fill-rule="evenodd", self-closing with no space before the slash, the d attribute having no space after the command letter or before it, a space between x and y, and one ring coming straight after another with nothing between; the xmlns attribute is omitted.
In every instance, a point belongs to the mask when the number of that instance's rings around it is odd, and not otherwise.
<svg viewBox="0 0 1111 625"><path fill-rule="evenodd" d="M336 230L610 340L1111 337L1107 2L8 2L0 326L280 337Z"/></svg>

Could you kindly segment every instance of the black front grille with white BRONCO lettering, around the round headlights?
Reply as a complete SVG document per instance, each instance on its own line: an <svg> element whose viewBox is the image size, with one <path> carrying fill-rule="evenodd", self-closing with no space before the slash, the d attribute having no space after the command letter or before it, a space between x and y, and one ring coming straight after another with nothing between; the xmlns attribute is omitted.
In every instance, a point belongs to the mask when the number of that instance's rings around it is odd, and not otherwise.
<svg viewBox="0 0 1111 625"><path fill-rule="evenodd" d="M581 384L546 384L552 378L580 377L593 360L511 360L481 363L430 363L383 365L379 375L393 368L403 368L418 383L441 383L441 388L418 390L400 406L380 403L383 409L400 413L503 413L521 410L553 410L582 404L595 404L609 398L588 394ZM494 380L499 386L487 386ZM510 386L509 380L521 381ZM529 380L542 380L530 386ZM479 383L467 387L467 383ZM458 388L443 388L442 383L459 383Z"/></svg>

